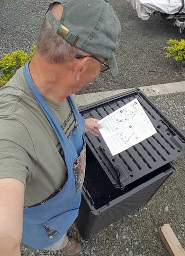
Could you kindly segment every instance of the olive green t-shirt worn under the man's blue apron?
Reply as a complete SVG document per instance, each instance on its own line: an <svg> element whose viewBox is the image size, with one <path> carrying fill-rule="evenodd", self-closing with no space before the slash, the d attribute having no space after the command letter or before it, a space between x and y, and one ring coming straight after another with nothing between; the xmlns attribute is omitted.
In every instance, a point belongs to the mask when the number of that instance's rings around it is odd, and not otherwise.
<svg viewBox="0 0 185 256"><path fill-rule="evenodd" d="M68 99L46 99L67 137L76 120ZM62 146L19 69L0 88L0 178L25 184L25 204L47 199L67 179Z"/></svg>

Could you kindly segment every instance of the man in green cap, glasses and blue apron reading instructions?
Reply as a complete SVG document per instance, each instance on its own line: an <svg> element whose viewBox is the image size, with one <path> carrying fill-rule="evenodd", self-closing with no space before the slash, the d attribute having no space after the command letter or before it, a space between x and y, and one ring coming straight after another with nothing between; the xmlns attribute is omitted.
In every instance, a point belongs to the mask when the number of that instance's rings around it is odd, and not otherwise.
<svg viewBox="0 0 185 256"><path fill-rule="evenodd" d="M99 135L73 96L110 68L121 29L106 0L57 0L37 37L37 53L0 89L0 255L36 249L78 255L66 235L78 216L85 175L84 131Z"/></svg>

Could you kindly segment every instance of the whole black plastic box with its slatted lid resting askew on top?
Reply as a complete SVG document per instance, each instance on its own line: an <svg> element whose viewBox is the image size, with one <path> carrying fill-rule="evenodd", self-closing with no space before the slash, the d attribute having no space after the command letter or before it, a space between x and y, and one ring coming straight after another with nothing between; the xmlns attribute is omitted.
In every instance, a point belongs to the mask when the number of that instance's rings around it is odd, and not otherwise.
<svg viewBox="0 0 185 256"><path fill-rule="evenodd" d="M185 154L185 136L139 89L80 109L84 118L102 119L138 99L157 134L111 156L103 138L86 134L86 176L76 225L84 239L145 205L173 173L171 161Z"/></svg>

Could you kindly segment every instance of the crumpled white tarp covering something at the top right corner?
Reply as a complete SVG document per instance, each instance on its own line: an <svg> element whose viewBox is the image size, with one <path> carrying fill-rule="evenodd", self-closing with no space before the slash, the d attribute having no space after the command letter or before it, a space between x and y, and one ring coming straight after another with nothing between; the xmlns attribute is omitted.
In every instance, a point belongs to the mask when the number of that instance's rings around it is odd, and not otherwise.
<svg viewBox="0 0 185 256"><path fill-rule="evenodd" d="M162 12L169 15L179 12L182 0L126 0L134 9L140 19L147 20L153 12ZM185 13L185 7L180 13Z"/></svg>

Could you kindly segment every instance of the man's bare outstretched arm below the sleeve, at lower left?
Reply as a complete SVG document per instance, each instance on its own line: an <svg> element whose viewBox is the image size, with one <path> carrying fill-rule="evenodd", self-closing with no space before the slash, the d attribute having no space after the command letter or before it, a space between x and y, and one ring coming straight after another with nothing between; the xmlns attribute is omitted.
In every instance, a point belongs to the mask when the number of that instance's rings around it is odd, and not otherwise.
<svg viewBox="0 0 185 256"><path fill-rule="evenodd" d="M13 178L0 179L0 256L20 256L25 186Z"/></svg>

